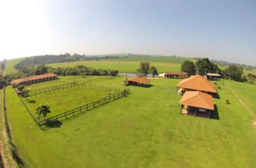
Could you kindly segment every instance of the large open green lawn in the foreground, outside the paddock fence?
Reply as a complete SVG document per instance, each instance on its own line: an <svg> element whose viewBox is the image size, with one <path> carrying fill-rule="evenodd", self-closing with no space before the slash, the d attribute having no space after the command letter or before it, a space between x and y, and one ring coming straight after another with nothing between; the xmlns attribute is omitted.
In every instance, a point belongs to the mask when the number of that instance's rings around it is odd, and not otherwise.
<svg viewBox="0 0 256 168"><path fill-rule="evenodd" d="M123 79L97 84L124 87ZM128 86L129 96L46 131L7 87L6 108L19 156L33 168L255 167L255 128L230 89L220 84L214 119L185 116L179 113L179 81L153 79L150 88Z"/></svg>

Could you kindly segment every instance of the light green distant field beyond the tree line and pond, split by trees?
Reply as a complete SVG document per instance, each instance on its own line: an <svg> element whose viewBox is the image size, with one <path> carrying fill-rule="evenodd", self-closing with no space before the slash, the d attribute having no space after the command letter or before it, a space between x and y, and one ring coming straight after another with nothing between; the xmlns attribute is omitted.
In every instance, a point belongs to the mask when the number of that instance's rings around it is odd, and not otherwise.
<svg viewBox="0 0 256 168"><path fill-rule="evenodd" d="M86 65L87 67L97 69L117 69L119 72L137 73L140 61L79 61L79 62L64 62L57 64L49 64L48 66L57 67L75 67L76 65ZM180 72L179 63L168 62L150 62L150 66L155 66L158 72L171 71Z"/></svg>

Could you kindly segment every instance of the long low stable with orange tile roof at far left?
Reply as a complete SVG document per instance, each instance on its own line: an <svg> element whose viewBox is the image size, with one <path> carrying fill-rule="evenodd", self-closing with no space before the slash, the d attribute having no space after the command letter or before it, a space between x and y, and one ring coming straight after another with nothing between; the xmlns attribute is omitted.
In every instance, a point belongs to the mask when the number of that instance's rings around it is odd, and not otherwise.
<svg viewBox="0 0 256 168"><path fill-rule="evenodd" d="M49 81L49 80L56 79L57 76L58 75L51 73L51 74L42 74L42 75L36 75L32 77L15 79L11 81L11 86L14 88L18 84L27 85L27 84L37 83L37 82Z"/></svg>

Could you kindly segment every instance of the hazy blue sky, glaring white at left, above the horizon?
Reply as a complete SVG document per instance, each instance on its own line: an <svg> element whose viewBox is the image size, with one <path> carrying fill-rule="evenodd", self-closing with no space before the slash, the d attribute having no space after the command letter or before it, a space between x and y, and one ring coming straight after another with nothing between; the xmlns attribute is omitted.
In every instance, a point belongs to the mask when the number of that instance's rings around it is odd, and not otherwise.
<svg viewBox="0 0 256 168"><path fill-rule="evenodd" d="M1 59L141 53L256 65L255 0L23 0L0 6Z"/></svg>

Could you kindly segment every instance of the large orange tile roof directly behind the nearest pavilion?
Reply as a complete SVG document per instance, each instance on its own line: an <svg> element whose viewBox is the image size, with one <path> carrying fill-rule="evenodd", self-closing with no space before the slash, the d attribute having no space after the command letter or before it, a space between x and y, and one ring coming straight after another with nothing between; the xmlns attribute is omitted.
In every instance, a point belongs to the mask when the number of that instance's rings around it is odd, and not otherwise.
<svg viewBox="0 0 256 168"><path fill-rule="evenodd" d="M209 82L207 79L205 79L205 77L202 77L201 75L194 75L190 78L183 79L176 86L185 89L217 93L214 84Z"/></svg>

